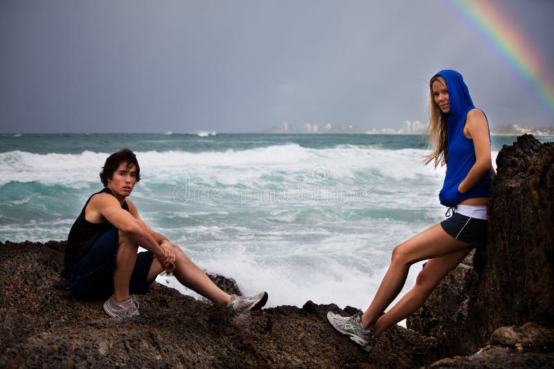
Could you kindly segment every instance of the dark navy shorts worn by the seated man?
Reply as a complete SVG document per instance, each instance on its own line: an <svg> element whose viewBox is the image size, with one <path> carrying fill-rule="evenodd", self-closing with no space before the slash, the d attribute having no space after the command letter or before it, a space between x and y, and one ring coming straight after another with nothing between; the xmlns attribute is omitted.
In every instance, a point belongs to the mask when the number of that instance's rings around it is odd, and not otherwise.
<svg viewBox="0 0 554 369"><path fill-rule="evenodd" d="M66 286L71 295L80 300L107 299L114 294L114 271L119 246L117 228L98 237L91 249L67 273ZM154 255L144 251L136 255L133 273L129 282L129 294L146 294L154 280L148 280Z"/></svg>

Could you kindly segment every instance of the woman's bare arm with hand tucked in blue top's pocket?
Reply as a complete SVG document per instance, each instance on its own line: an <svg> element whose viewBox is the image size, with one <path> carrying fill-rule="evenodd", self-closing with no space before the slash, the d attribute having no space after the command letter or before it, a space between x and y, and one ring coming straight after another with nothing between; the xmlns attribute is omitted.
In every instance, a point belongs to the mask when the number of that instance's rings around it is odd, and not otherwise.
<svg viewBox="0 0 554 369"><path fill-rule="evenodd" d="M461 193L471 190L492 167L489 128L483 111L472 109L467 113L463 133L473 140L476 161L458 186Z"/></svg>

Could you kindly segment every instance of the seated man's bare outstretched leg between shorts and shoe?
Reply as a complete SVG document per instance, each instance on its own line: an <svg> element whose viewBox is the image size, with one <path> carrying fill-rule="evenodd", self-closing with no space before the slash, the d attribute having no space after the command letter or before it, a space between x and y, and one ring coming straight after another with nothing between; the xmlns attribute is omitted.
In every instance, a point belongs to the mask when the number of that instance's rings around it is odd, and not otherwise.
<svg viewBox="0 0 554 369"><path fill-rule="evenodd" d="M229 295L222 291L220 287L217 287L217 285L206 276L206 273L185 255L179 246L174 244L174 248L176 259L175 271L173 271L173 274L181 285L192 289L197 292L197 294L201 294L217 305L225 305L228 303ZM150 271L148 272L148 280L153 280L162 271L163 268L161 264L154 258L152 267L150 267Z"/></svg>

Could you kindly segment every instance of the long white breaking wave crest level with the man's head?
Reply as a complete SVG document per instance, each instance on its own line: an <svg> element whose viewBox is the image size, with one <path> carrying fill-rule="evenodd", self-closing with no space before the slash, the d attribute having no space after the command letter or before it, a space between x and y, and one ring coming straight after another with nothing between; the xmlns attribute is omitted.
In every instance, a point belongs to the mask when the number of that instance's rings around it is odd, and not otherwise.
<svg viewBox="0 0 554 369"><path fill-rule="evenodd" d="M264 176L278 175L285 181L309 179L321 168L328 179L357 180L357 173L395 181L442 179L444 168L422 165L425 150L376 150L336 147L317 150L296 144L275 145L226 152L137 152L146 181L175 181L197 177L202 183L262 183ZM498 152L492 152L493 162ZM0 154L0 184L8 181L39 181L67 186L83 178L96 181L108 153L31 154L12 151ZM317 178L314 178L317 179Z"/></svg>

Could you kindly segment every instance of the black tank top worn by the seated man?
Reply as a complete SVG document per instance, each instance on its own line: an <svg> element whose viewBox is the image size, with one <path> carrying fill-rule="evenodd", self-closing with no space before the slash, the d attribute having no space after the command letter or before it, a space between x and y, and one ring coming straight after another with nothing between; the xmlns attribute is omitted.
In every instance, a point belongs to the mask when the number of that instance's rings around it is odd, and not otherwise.
<svg viewBox="0 0 554 369"><path fill-rule="evenodd" d="M111 228L114 228L114 226L108 221L102 223L91 223L87 219L84 219L84 209L87 208L89 201L91 201L91 198L94 195L98 195L102 192L114 195L109 188L104 188L100 192L96 192L91 195L91 197L87 200L87 203L84 204L77 220L75 220L75 223L71 226L65 248L64 270L62 271L62 276L66 276L66 274L73 269L75 264L77 264L84 255L87 255L91 249L91 246L101 235L109 231ZM121 208L129 211L127 201L123 201Z"/></svg>

